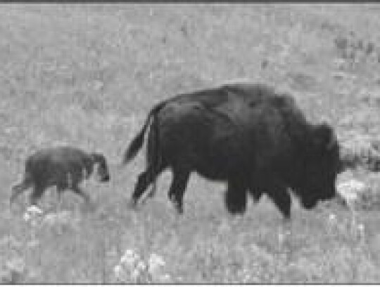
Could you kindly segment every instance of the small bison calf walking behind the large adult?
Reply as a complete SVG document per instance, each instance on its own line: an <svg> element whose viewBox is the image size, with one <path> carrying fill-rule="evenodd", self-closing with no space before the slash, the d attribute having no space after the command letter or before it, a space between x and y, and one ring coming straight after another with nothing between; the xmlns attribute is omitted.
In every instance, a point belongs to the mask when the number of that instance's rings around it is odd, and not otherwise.
<svg viewBox="0 0 380 287"><path fill-rule="evenodd" d="M79 187L89 178L97 165L99 181L110 180L106 158L103 154L87 154L74 147L41 149L27 158L23 181L12 187L11 204L27 188L33 188L30 204L36 204L46 188L56 185L58 197L70 189L88 203L89 195Z"/></svg>

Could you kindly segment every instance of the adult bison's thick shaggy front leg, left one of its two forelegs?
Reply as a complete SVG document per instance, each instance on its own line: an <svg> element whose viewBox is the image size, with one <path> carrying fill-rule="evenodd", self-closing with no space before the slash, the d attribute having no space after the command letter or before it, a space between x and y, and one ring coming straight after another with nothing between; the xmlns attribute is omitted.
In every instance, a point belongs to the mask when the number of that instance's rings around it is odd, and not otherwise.
<svg viewBox="0 0 380 287"><path fill-rule="evenodd" d="M239 180L229 180L224 201L231 214L243 214L247 208L247 188Z"/></svg>

